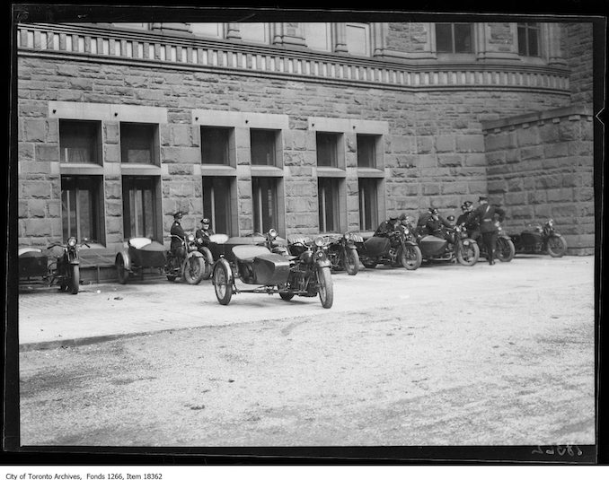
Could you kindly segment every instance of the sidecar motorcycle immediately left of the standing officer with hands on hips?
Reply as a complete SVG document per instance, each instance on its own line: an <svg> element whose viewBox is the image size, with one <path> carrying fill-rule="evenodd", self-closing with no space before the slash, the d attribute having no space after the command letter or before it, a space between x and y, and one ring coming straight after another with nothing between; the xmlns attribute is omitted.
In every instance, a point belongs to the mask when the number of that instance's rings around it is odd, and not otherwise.
<svg viewBox="0 0 609 480"><path fill-rule="evenodd" d="M417 240L423 259L429 261L445 260L473 266L480 257L480 248L476 240L468 238L467 230L461 225L444 227L444 238L428 234L425 227L416 230Z"/></svg>

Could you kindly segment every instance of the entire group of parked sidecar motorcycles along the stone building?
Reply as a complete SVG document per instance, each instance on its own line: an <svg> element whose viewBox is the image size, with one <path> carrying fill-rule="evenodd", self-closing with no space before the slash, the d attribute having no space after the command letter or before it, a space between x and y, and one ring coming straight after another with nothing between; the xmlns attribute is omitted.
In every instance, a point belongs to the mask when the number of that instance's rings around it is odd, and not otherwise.
<svg viewBox="0 0 609 480"><path fill-rule="evenodd" d="M475 240L475 231L454 224L444 227L439 235L431 235L410 216L390 231L376 231L366 239L365 234L349 231L314 239L293 235L286 240L274 229L245 237L172 237L180 240L180 248L166 250L162 243L148 238L128 239L115 257L119 283L142 279L146 273L161 273L170 282L182 278L187 284L211 279L222 305L228 305L237 293L278 293L284 301L295 296L319 296L322 307L330 309L334 297L332 271L357 275L360 262L367 269L384 265L416 270L423 262L436 261L473 266L481 255L487 255ZM58 285L62 292L78 293L78 251L89 247L86 241L79 244L70 237L66 244L49 245L48 249L62 249L52 258L42 249L20 249L20 284ZM554 229L552 219L543 225L530 225L517 235L499 228L496 256L503 262L516 254L561 257L566 250L567 243ZM247 286L237 286L236 280Z"/></svg>

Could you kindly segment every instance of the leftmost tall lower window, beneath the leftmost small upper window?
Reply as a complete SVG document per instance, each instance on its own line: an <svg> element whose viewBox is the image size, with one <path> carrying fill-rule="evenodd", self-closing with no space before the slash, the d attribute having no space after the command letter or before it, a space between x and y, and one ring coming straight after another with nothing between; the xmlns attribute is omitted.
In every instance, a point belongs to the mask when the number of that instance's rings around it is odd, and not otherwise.
<svg viewBox="0 0 609 480"><path fill-rule="evenodd" d="M61 178L61 223L64 239L102 240L100 192L102 179L73 176Z"/></svg>

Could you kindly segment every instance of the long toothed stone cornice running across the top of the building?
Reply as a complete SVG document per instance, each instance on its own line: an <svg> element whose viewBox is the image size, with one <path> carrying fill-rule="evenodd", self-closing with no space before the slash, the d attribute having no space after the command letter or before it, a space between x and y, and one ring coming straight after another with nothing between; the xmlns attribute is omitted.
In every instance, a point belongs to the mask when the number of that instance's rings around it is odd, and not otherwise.
<svg viewBox="0 0 609 480"><path fill-rule="evenodd" d="M569 70L508 62L401 62L93 25L20 24L19 55L69 57L405 90L498 89L569 93Z"/></svg>

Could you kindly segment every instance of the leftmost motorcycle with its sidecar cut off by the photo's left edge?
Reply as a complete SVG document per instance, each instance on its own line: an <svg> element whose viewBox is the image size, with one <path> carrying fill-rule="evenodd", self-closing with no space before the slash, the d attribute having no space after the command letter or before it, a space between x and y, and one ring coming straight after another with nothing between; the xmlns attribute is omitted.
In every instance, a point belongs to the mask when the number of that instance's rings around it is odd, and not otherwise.
<svg viewBox="0 0 609 480"><path fill-rule="evenodd" d="M59 285L61 292L78 293L80 289L80 247L91 248L86 239L79 245L75 237L67 239L66 244L52 243L47 249L59 247L61 255L49 263L49 257L41 249L19 249L19 279L20 284L31 283L32 277L40 277L42 283L52 286Z"/></svg>

